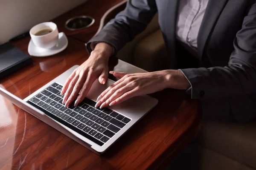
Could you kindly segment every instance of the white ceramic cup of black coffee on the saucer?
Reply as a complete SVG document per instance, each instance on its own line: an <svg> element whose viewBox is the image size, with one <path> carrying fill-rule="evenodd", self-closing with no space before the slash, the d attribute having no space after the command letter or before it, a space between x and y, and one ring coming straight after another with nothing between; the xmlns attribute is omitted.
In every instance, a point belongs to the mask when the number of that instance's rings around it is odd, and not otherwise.
<svg viewBox="0 0 256 170"><path fill-rule="evenodd" d="M45 35L35 35L38 31L51 28L52 32ZM58 28L55 23L46 22L33 26L29 31L31 40L41 48L52 48L58 43Z"/></svg>

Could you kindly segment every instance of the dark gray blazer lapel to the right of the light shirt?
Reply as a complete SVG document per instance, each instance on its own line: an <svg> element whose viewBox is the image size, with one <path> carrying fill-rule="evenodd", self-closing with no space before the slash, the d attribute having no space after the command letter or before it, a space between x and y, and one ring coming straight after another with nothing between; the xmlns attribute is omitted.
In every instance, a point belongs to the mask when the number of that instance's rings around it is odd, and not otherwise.
<svg viewBox="0 0 256 170"><path fill-rule="evenodd" d="M199 32L198 32L198 54L201 58L204 53L205 44L209 37L212 28L215 26L218 17L221 14L224 6L228 0L209 0L204 19L201 23Z"/></svg>

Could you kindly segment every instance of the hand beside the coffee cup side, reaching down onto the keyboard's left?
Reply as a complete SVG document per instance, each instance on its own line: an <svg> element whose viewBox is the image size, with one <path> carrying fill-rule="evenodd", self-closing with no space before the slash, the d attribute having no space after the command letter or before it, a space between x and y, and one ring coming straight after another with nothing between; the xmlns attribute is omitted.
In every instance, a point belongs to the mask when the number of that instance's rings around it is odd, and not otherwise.
<svg viewBox="0 0 256 170"><path fill-rule="evenodd" d="M74 106L82 102L96 79L99 79L101 84L105 84L108 79L108 60L111 54L113 54L111 45L98 43L90 57L73 71L61 90L61 95L65 94L63 98L65 107L68 107L76 97Z"/></svg>

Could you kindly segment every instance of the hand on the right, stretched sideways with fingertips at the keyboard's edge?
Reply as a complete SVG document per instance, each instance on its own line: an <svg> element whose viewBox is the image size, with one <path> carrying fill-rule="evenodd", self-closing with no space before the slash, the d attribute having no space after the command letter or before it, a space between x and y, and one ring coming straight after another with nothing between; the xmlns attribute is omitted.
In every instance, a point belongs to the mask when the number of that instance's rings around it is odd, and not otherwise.
<svg viewBox="0 0 256 170"><path fill-rule="evenodd" d="M179 70L127 74L111 71L119 80L98 97L95 107L116 105L134 96L151 94L165 88L187 89L189 82ZM176 82L172 82L176 81ZM182 82L181 82L182 81Z"/></svg>

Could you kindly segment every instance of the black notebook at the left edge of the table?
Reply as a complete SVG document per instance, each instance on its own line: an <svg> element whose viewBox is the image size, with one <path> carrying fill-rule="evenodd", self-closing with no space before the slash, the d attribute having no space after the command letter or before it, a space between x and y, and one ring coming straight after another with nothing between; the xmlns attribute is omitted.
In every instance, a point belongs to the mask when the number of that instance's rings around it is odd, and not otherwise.
<svg viewBox="0 0 256 170"><path fill-rule="evenodd" d="M32 63L32 58L10 42L0 45L0 78Z"/></svg>

